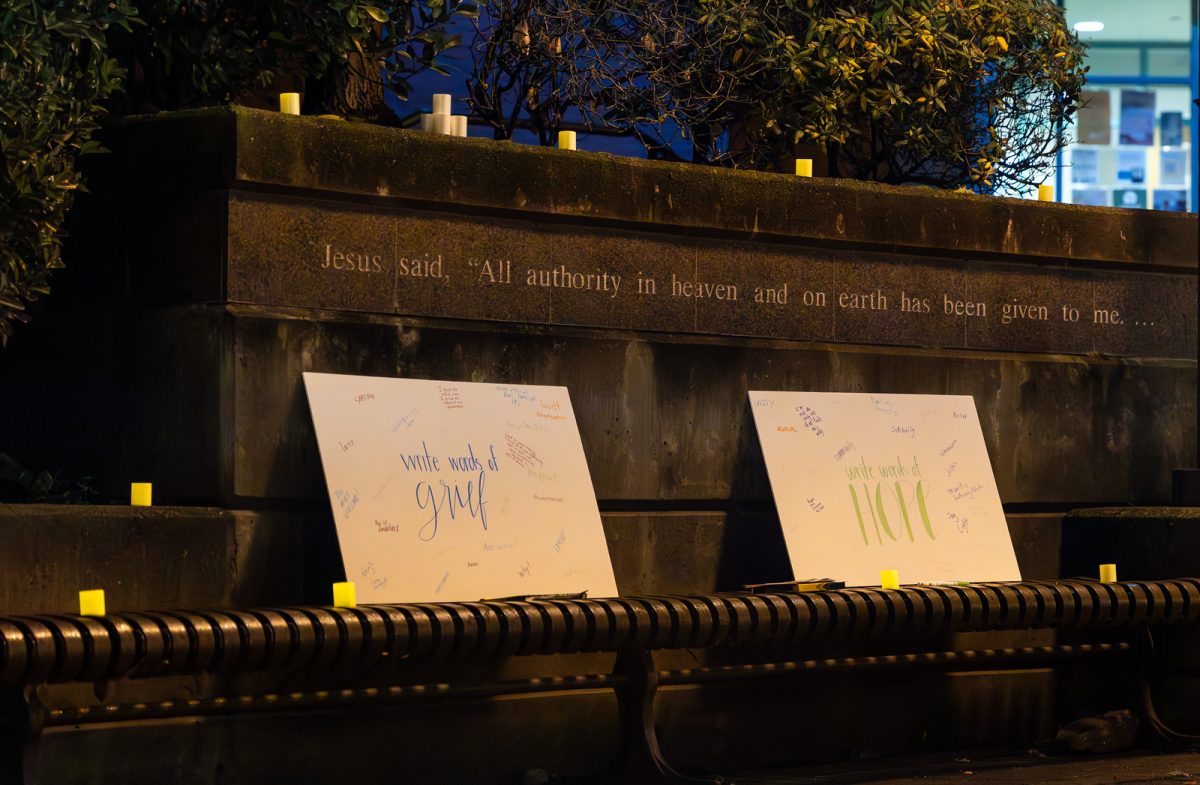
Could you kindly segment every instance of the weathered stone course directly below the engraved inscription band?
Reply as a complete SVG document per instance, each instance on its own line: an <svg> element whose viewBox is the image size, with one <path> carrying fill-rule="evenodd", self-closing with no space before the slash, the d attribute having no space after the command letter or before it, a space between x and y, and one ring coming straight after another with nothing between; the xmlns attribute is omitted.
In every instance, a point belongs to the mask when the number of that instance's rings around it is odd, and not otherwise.
<svg viewBox="0 0 1200 785"><path fill-rule="evenodd" d="M972 395L1008 503L1165 499L1170 469L1194 460L1195 373L1178 362L846 352L251 306L43 322L2 362L6 378L43 379L0 389L10 449L92 475L118 499L134 480L154 481L163 503L324 498L304 371L565 385L602 503L769 499L761 477L739 487L761 468L738 449L754 442L748 389Z"/></svg>

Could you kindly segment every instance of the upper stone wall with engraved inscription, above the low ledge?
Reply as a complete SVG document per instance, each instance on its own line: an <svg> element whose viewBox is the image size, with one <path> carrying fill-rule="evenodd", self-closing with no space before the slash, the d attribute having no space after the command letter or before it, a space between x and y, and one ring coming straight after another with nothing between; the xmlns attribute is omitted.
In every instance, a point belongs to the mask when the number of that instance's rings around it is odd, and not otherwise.
<svg viewBox="0 0 1200 785"><path fill-rule="evenodd" d="M565 384L610 509L768 502L752 388L970 394L1021 510L1164 502L1195 460L1192 215L247 109L109 145L0 417L118 497L319 507L308 370Z"/></svg>

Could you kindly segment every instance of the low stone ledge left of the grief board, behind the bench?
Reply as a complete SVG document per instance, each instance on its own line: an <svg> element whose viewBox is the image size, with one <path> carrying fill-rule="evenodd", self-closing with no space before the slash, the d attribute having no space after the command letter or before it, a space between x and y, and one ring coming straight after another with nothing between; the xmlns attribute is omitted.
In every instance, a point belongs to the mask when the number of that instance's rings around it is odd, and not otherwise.
<svg viewBox="0 0 1200 785"><path fill-rule="evenodd" d="M90 588L118 613L294 604L313 522L194 507L0 505L0 613L78 613Z"/></svg>

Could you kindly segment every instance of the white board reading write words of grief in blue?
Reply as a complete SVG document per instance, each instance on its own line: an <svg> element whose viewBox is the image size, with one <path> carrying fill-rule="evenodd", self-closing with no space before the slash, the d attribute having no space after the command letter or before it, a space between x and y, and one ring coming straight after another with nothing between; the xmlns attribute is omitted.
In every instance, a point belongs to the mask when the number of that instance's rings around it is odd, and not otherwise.
<svg viewBox="0 0 1200 785"><path fill-rule="evenodd" d="M566 388L304 382L361 601L617 594Z"/></svg>

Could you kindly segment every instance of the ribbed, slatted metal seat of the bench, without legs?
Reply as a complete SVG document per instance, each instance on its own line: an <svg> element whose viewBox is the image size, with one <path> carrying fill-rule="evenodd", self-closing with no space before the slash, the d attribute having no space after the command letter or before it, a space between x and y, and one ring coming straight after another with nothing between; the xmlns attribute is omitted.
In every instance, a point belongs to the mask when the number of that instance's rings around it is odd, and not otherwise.
<svg viewBox="0 0 1200 785"><path fill-rule="evenodd" d="M0 687L1200 619L1200 580L0 616Z"/></svg>

